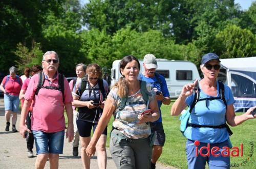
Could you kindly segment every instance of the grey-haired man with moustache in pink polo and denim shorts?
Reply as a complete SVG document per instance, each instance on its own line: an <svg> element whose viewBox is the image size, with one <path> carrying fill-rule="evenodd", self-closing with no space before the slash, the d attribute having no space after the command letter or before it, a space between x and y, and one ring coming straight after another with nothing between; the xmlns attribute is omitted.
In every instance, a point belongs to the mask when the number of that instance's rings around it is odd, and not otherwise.
<svg viewBox="0 0 256 169"><path fill-rule="evenodd" d="M25 133L33 132L36 145L35 168L44 168L49 158L50 167L58 168L59 154L63 153L63 142L65 134L64 107L67 111L68 129L66 138L72 142L74 137L72 95L69 83L64 78L64 92L59 89L57 72L59 66L58 55L55 51L47 51L42 57L42 68L44 72L43 85L36 95L39 74L31 77L28 89L25 93L25 101L20 116L19 132L25 138ZM29 107L33 103L33 114L31 117L31 130L25 125Z"/></svg>

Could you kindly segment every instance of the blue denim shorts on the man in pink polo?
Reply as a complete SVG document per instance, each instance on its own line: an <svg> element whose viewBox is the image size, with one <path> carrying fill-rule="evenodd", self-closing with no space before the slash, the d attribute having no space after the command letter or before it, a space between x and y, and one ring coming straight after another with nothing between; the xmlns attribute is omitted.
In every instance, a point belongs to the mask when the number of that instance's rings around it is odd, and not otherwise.
<svg viewBox="0 0 256 169"><path fill-rule="evenodd" d="M62 154L65 131L47 133L32 131L35 138L36 154Z"/></svg>

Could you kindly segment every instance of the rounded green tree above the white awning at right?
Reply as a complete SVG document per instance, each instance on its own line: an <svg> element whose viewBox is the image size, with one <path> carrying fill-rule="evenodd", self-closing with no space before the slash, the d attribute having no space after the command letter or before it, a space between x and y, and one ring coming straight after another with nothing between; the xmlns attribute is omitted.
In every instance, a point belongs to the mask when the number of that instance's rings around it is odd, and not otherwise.
<svg viewBox="0 0 256 169"><path fill-rule="evenodd" d="M247 29L228 25L216 35L214 52L221 58L244 58L256 54L256 39Z"/></svg>

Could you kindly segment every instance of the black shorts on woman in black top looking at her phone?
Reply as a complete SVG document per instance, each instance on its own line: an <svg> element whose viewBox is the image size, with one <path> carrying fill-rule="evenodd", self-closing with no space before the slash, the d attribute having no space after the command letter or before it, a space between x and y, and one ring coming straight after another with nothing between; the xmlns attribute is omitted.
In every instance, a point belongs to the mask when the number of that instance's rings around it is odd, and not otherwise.
<svg viewBox="0 0 256 169"><path fill-rule="evenodd" d="M79 135L81 137L90 137L92 128L93 128L93 132L94 132L98 124L83 121L83 120L77 120L76 125L77 125ZM108 127L105 128L105 130L103 131L102 134L106 135L107 131L108 131Z"/></svg>

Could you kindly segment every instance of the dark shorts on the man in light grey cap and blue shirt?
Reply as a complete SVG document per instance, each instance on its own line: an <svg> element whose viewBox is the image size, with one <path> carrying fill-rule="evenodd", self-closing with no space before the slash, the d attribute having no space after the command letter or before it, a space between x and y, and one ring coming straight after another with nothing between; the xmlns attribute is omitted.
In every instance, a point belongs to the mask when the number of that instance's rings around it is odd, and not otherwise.
<svg viewBox="0 0 256 169"><path fill-rule="evenodd" d="M154 146L162 146L163 147L163 145L165 143L165 133L163 130L163 123L162 122L153 123L152 130L156 134Z"/></svg>

